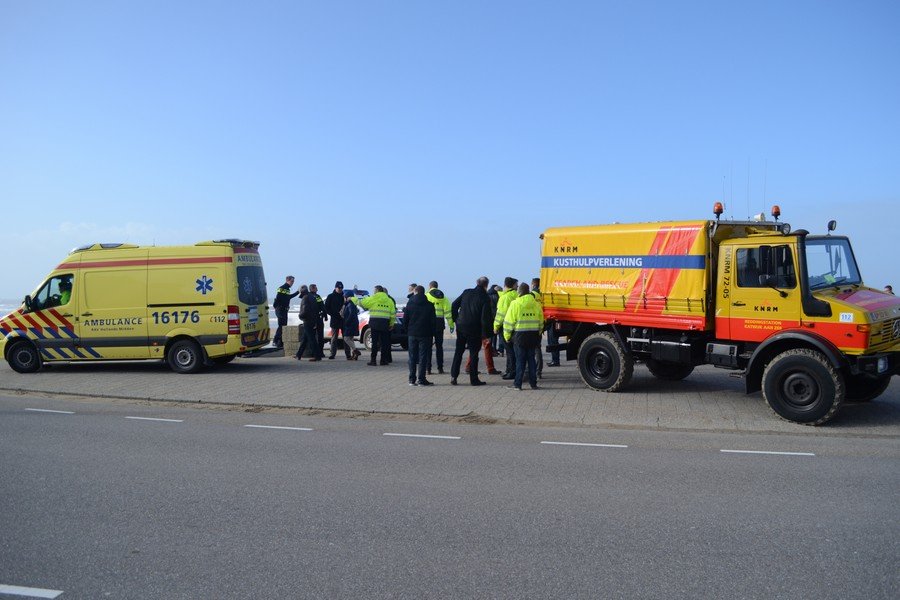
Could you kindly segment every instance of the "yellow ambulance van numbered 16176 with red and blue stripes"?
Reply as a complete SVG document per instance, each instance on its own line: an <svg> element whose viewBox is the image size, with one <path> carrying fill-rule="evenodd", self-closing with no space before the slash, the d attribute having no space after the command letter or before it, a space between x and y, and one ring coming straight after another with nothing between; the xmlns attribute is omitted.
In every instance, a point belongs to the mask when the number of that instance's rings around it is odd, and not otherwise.
<svg viewBox="0 0 900 600"><path fill-rule="evenodd" d="M267 300L258 242L91 244L0 319L0 352L19 373L138 359L195 373L268 342Z"/></svg>

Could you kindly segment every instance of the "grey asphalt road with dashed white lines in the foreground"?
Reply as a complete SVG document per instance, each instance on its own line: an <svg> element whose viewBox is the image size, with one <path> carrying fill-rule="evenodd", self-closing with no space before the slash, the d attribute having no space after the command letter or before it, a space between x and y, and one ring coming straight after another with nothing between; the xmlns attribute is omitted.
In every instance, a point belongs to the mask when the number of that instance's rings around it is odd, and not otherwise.
<svg viewBox="0 0 900 600"><path fill-rule="evenodd" d="M12 396L0 456L0 598L900 597L896 438Z"/></svg>

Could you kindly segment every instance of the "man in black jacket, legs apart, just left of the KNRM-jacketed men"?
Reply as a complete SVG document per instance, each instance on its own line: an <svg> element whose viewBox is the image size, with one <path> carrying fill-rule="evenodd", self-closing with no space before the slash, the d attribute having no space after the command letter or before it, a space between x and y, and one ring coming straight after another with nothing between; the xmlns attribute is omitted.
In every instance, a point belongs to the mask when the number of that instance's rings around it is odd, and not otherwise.
<svg viewBox="0 0 900 600"><path fill-rule="evenodd" d="M456 352L450 366L450 383L456 385L462 357L468 349L472 364L469 367L469 382L484 385L478 379L478 350L481 340L491 334L491 302L487 296L488 278L479 277L475 287L464 291L453 301L450 313L456 323Z"/></svg>

